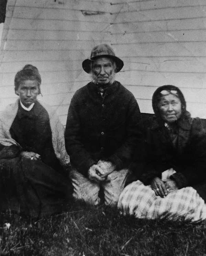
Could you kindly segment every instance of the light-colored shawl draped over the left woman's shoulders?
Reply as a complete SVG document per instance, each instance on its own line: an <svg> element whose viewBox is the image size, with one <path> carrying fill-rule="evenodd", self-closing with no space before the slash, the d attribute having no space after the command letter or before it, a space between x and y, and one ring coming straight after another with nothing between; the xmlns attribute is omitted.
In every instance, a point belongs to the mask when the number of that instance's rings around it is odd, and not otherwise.
<svg viewBox="0 0 206 256"><path fill-rule="evenodd" d="M70 159L65 148L64 127L61 124L55 110L47 104L38 100L38 102L46 109L49 115L50 127L52 130L52 144L56 157L61 165L69 165ZM19 99L15 103L10 104L0 115L0 143L4 146L18 145L9 132L11 125L15 119L19 107Z"/></svg>

